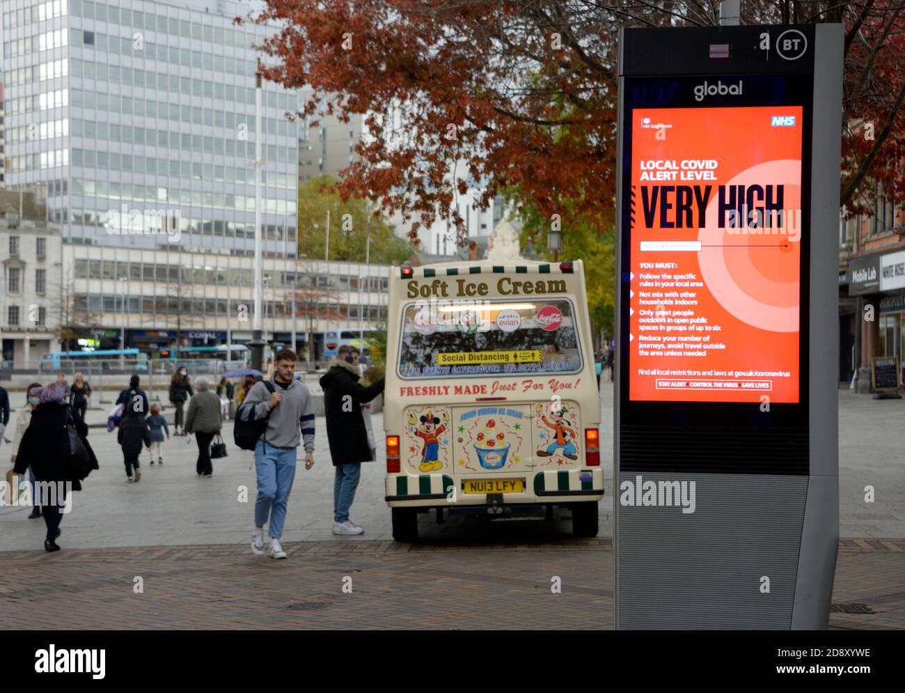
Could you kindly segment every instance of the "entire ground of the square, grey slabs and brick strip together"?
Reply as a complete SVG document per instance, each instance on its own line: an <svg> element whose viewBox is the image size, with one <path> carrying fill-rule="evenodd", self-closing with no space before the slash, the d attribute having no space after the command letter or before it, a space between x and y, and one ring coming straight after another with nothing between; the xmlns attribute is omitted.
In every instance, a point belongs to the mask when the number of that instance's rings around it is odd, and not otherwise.
<svg viewBox="0 0 905 693"><path fill-rule="evenodd" d="M603 419L612 390L602 389ZM102 410L92 417L101 420ZM843 538L831 626L905 628L905 401L840 391ZM378 437L383 426L374 418ZM334 537L332 476L322 419L310 472L300 468L287 561L248 549L251 453L232 445L214 477L195 476L194 440L165 444L164 467L126 484L115 434L92 428L101 469L63 518L63 551L41 550L43 523L0 508L0 605L16 628L610 628L613 621L612 428L601 431L606 494L597 539L575 540L564 511L544 519L424 517L419 544L391 540L383 453L363 468L353 519L361 537ZM378 439L383 449L383 439ZM610 448L611 450L611 448ZM0 458L9 448L0 448ZM864 502L864 486L876 501ZM241 487L248 500L240 499ZM880 537L879 539L876 537ZM892 538L889 538L892 537ZM505 558L501 555L505 553ZM550 592L551 578L562 593ZM342 591L345 578L352 592ZM143 592L137 593L136 578ZM346 581L348 582L348 581Z"/></svg>

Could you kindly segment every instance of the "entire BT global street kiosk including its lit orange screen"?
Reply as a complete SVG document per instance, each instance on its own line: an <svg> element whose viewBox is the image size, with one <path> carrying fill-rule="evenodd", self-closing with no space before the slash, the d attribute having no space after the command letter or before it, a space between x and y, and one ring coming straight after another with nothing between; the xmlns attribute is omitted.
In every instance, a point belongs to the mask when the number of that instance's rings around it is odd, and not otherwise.
<svg viewBox="0 0 905 693"><path fill-rule="evenodd" d="M622 34L615 474L687 483L696 510L617 505L619 628L826 625L838 279L814 229L838 225L841 45L828 24Z"/></svg>

